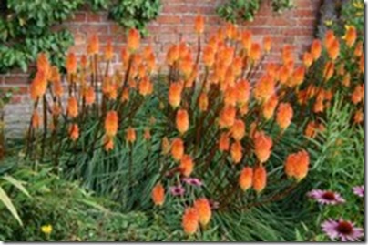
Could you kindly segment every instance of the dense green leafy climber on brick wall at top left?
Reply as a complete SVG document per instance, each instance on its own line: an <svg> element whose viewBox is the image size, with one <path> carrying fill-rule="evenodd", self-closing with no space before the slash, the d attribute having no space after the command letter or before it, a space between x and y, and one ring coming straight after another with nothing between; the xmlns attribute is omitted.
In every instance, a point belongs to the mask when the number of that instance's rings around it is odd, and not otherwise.
<svg viewBox="0 0 368 245"><path fill-rule="evenodd" d="M1 3L0 15L0 73L20 67L26 71L36 55L45 52L50 61L63 67L64 54L73 45L67 30L53 31L52 27L71 18L80 7L88 5L93 11L108 10L110 17L124 27L135 27L147 33L145 26L156 18L160 0L7 0Z"/></svg>

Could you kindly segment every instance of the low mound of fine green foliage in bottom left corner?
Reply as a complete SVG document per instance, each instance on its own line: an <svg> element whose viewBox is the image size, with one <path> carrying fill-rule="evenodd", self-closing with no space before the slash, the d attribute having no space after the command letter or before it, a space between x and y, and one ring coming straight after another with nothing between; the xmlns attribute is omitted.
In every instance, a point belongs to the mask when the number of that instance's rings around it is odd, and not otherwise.
<svg viewBox="0 0 368 245"><path fill-rule="evenodd" d="M8 159L10 160L10 159ZM11 161L10 161L11 162ZM9 164L9 161L7 161ZM13 162L12 162L13 164ZM16 179L5 175L7 184L1 186L17 207L23 220L21 227L5 207L0 205L0 240L15 241L134 241L162 240L163 232L148 222L143 213L121 214L111 211L117 204L97 199L80 189L77 183L57 178L50 169L39 171L25 166L2 168L2 175L10 172ZM4 181L4 180L2 180ZM23 189L23 186L26 189ZM21 188L23 191L15 191ZM32 198L27 197L27 193ZM0 193L2 193L0 191ZM26 195L25 195L26 194ZM0 194L0 197L3 197ZM0 202L1 203L1 202ZM104 208L108 207L108 208ZM49 235L41 227L51 225Z"/></svg>

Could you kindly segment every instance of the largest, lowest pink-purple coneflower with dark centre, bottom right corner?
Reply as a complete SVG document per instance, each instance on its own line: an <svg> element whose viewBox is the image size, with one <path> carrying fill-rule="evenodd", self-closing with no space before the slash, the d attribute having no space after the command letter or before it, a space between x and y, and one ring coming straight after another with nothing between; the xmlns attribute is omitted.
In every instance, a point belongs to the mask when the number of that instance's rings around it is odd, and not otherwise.
<svg viewBox="0 0 368 245"><path fill-rule="evenodd" d="M350 221L340 219L335 221L329 219L322 223L322 230L330 237L330 239L340 239L342 241L356 241L364 236L362 228L355 227Z"/></svg>

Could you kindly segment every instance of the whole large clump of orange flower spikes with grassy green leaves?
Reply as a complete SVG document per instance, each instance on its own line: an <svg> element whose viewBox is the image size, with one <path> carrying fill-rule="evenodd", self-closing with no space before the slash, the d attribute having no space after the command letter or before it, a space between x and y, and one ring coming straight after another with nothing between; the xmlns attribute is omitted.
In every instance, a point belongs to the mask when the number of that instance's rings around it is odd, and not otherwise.
<svg viewBox="0 0 368 245"><path fill-rule="evenodd" d="M67 55L66 93L59 71L40 54L31 86L35 110L28 156L37 157L42 102L42 152L51 152L62 175L84 179L97 192L138 209L148 208L149 197L161 209L175 202L188 234L205 229L214 209L281 199L308 174L308 148L288 140L303 138L304 116L319 117L332 99L337 87L325 86L340 42L334 36L325 42L331 60L315 85L319 75L313 71L323 51L319 40L302 64L289 45L281 49L280 64L265 64L271 36L257 42L249 30L226 24L203 43L204 29L198 16L197 49L185 42L169 47L165 76L155 73L153 49L140 46L137 30L128 31L122 65L113 73L112 44L101 54L92 36L86 55L79 60ZM352 38L346 37L347 46L354 45ZM363 62L362 53L352 56ZM361 88L356 104L363 100ZM313 123L306 129L309 137L322 128Z"/></svg>

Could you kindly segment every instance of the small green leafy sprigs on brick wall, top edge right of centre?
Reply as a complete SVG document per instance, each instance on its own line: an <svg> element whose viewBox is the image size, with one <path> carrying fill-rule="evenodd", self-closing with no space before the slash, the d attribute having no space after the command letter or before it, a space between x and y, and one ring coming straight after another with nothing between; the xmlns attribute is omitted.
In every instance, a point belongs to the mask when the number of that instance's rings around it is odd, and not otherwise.
<svg viewBox="0 0 368 245"><path fill-rule="evenodd" d="M241 21L253 21L254 15L260 9L262 0L229 0L223 5L219 5L217 13L226 21L231 23ZM272 9L281 13L293 7L293 0L272 0Z"/></svg>

